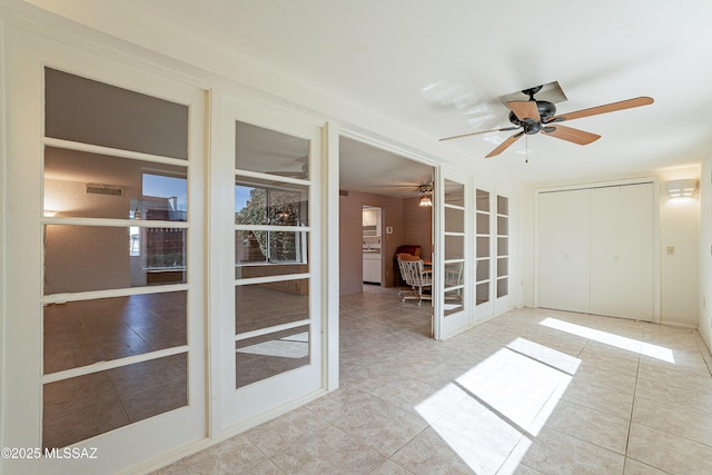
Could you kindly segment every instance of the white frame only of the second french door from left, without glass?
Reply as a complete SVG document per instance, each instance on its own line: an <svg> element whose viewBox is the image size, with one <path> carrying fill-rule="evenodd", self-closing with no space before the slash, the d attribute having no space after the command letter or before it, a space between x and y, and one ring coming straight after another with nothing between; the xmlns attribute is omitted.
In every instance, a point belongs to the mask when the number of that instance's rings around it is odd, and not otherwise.
<svg viewBox="0 0 712 475"><path fill-rule="evenodd" d="M212 161L210 164L210 434L226 438L326 394L327 352L323 310L323 155L326 125L267 102L227 91L212 95ZM236 389L235 363L235 130L246 122L309 140L309 354L310 364ZM289 180L288 178L286 180ZM299 228L296 228L299 229Z"/></svg>

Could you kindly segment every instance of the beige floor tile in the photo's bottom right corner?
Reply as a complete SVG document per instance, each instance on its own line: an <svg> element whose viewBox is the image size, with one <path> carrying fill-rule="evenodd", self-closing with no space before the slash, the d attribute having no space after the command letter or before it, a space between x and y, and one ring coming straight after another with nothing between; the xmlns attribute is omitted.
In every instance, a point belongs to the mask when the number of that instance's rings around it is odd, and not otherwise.
<svg viewBox="0 0 712 475"><path fill-rule="evenodd" d="M641 424L631 424L627 456L671 474L712 473L712 447Z"/></svg>

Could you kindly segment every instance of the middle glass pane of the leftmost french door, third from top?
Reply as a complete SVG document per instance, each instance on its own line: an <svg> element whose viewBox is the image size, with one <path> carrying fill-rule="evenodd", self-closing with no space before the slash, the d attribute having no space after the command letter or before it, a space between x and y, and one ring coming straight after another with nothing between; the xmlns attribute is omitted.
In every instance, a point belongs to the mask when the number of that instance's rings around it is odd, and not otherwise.
<svg viewBox="0 0 712 475"><path fill-rule="evenodd" d="M178 228L47 225L44 295L185 283L186 237Z"/></svg>

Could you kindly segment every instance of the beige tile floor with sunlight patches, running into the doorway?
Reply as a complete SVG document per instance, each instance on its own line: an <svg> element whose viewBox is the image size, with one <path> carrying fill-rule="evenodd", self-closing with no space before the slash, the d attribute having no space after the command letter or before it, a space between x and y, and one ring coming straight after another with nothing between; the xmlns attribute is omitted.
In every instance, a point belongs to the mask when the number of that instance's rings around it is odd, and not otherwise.
<svg viewBox="0 0 712 475"><path fill-rule="evenodd" d="M446 342L429 307L342 300L340 388L160 474L709 474L695 330L523 308Z"/></svg>

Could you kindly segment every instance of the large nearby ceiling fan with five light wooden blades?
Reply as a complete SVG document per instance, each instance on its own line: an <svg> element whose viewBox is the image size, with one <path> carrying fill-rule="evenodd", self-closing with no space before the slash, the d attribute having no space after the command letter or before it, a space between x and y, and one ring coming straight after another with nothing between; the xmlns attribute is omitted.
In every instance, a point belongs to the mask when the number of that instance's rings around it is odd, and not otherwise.
<svg viewBox="0 0 712 475"><path fill-rule="evenodd" d="M560 125L560 122L563 122L565 120L580 119L582 117L597 116L600 113L615 112L616 110L632 109L634 107L647 106L653 103L653 99L650 97L637 97L634 99L622 100L620 102L606 103L604 106L592 107L590 109L582 109L575 112L567 112L556 116L556 106L554 106L553 102L536 100L534 98L534 95L541 89L542 86L524 89L522 92L530 97L528 100L514 100L507 102L507 108L510 108L510 122L514 125L513 127L462 133L458 136L442 138L439 139L439 141L453 140L462 137L475 136L478 133L520 130L518 132L514 133L505 141L503 141L490 154L487 154L485 158L491 158L502 154L525 133L527 136L531 136L542 132L546 136L566 140L573 144L589 145L600 139L601 136L571 127L564 127Z"/></svg>

